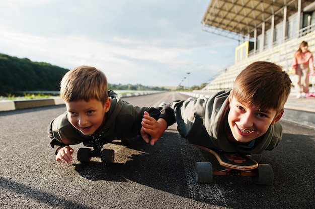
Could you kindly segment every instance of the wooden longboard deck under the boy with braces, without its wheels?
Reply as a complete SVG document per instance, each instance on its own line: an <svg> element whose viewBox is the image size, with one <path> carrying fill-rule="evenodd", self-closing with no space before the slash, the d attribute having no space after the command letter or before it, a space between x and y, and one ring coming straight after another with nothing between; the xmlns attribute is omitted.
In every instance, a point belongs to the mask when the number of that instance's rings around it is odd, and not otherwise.
<svg viewBox="0 0 315 209"><path fill-rule="evenodd" d="M212 153L218 160L220 165L227 168L237 170L253 170L258 167L258 163L246 154L226 153L223 151L218 151L215 149L210 149L199 145L194 146Z"/></svg>

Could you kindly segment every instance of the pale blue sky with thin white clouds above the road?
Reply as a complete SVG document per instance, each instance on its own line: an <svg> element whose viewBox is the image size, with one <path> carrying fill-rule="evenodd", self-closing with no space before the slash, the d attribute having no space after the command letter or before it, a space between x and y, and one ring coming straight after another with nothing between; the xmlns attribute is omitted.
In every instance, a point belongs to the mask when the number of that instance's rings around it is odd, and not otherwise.
<svg viewBox="0 0 315 209"><path fill-rule="evenodd" d="M69 70L94 66L111 84L200 86L234 63L238 45L202 30L209 3L2 0L0 53Z"/></svg>

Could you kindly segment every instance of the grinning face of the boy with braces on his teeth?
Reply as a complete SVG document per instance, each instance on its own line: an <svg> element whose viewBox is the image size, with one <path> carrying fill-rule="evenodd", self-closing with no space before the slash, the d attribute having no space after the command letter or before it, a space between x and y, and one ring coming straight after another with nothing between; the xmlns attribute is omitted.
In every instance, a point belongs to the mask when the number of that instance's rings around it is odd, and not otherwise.
<svg viewBox="0 0 315 209"><path fill-rule="evenodd" d="M248 143L265 134L270 125L275 124L282 117L283 111L276 115L276 111L268 109L260 111L245 103L239 102L235 96L229 98L228 125L235 140Z"/></svg>

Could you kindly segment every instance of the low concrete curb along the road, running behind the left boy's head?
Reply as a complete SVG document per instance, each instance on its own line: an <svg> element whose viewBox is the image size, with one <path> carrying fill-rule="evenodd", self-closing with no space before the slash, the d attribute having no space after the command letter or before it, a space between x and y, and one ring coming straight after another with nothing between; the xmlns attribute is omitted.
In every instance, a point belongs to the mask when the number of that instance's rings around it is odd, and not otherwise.
<svg viewBox="0 0 315 209"><path fill-rule="evenodd" d="M153 93L161 93L165 91L141 91L135 93L118 93L120 98L130 96L141 96ZM0 112L15 111L29 108L40 108L46 106L56 106L64 104L64 101L60 97L53 97L47 99L25 99L25 100L0 100Z"/></svg>

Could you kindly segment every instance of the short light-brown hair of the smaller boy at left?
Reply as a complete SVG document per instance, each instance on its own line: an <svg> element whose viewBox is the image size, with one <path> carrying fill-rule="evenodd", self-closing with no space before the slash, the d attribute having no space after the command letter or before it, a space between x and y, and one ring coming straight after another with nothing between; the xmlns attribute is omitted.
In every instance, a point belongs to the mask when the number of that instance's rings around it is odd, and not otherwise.
<svg viewBox="0 0 315 209"><path fill-rule="evenodd" d="M68 71L60 82L60 96L66 101L97 99L103 104L108 99L105 74L90 66L78 66Z"/></svg>

